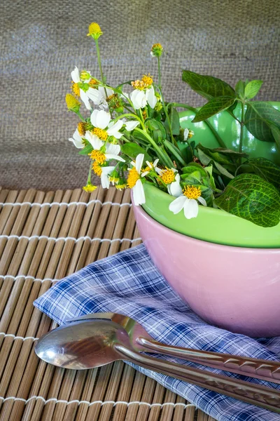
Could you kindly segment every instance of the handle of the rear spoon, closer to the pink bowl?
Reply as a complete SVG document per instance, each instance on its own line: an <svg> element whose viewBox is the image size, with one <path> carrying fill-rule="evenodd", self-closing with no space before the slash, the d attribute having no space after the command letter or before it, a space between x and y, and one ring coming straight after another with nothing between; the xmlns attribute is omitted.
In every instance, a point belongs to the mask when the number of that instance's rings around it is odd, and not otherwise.
<svg viewBox="0 0 280 421"><path fill-rule="evenodd" d="M276 361L221 354L220 352L172 347L172 345L165 345L143 337L135 338L135 341L138 345L144 347L146 352L157 352L158 354L176 356L192 361L193 363L204 364L204 366L219 368L220 370L280 384L280 363Z"/></svg>

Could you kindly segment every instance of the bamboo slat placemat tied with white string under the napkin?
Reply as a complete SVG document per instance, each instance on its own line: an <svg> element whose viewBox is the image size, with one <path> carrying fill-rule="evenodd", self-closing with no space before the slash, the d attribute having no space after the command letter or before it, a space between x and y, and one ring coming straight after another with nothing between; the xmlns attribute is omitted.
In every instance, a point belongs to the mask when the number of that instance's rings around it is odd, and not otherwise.
<svg viewBox="0 0 280 421"><path fill-rule="evenodd" d="M141 243L130 192L0 188L0 421L213 421L118 361L50 366L34 342L57 325L32 302L57 279Z"/></svg>

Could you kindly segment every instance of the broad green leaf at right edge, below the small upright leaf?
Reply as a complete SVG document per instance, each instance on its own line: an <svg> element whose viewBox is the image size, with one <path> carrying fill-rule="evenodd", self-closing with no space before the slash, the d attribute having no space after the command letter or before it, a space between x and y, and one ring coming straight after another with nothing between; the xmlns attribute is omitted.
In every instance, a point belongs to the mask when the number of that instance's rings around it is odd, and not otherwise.
<svg viewBox="0 0 280 421"><path fill-rule="evenodd" d="M247 130L255 138L264 142L274 142L274 126L280 129L280 112L267 102L248 102L245 121Z"/></svg>

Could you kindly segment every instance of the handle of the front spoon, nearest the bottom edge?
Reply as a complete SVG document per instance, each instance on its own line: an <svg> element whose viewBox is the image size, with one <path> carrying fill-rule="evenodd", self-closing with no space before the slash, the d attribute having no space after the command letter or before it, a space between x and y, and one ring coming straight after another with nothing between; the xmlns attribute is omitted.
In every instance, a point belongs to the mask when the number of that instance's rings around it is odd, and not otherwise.
<svg viewBox="0 0 280 421"><path fill-rule="evenodd" d="M171 363L153 358L128 349L123 345L115 344L114 349L125 361L136 363L141 367L157 371L193 385L213 390L226 396L239 399L260 406L276 413L280 413L280 392L262 385L244 382L244 380L232 379L223 375L209 373L198 368L190 368L181 364Z"/></svg>

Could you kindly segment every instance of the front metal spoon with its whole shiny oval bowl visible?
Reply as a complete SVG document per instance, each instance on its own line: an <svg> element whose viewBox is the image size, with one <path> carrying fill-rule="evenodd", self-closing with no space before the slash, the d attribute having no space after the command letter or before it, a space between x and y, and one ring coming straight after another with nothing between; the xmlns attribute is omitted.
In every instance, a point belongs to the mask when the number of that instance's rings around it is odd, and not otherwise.
<svg viewBox="0 0 280 421"><path fill-rule="evenodd" d="M126 330L108 320L85 320L51 330L38 340L36 354L55 366L83 370L125 360L240 401L280 413L280 392L243 380L139 354Z"/></svg>

